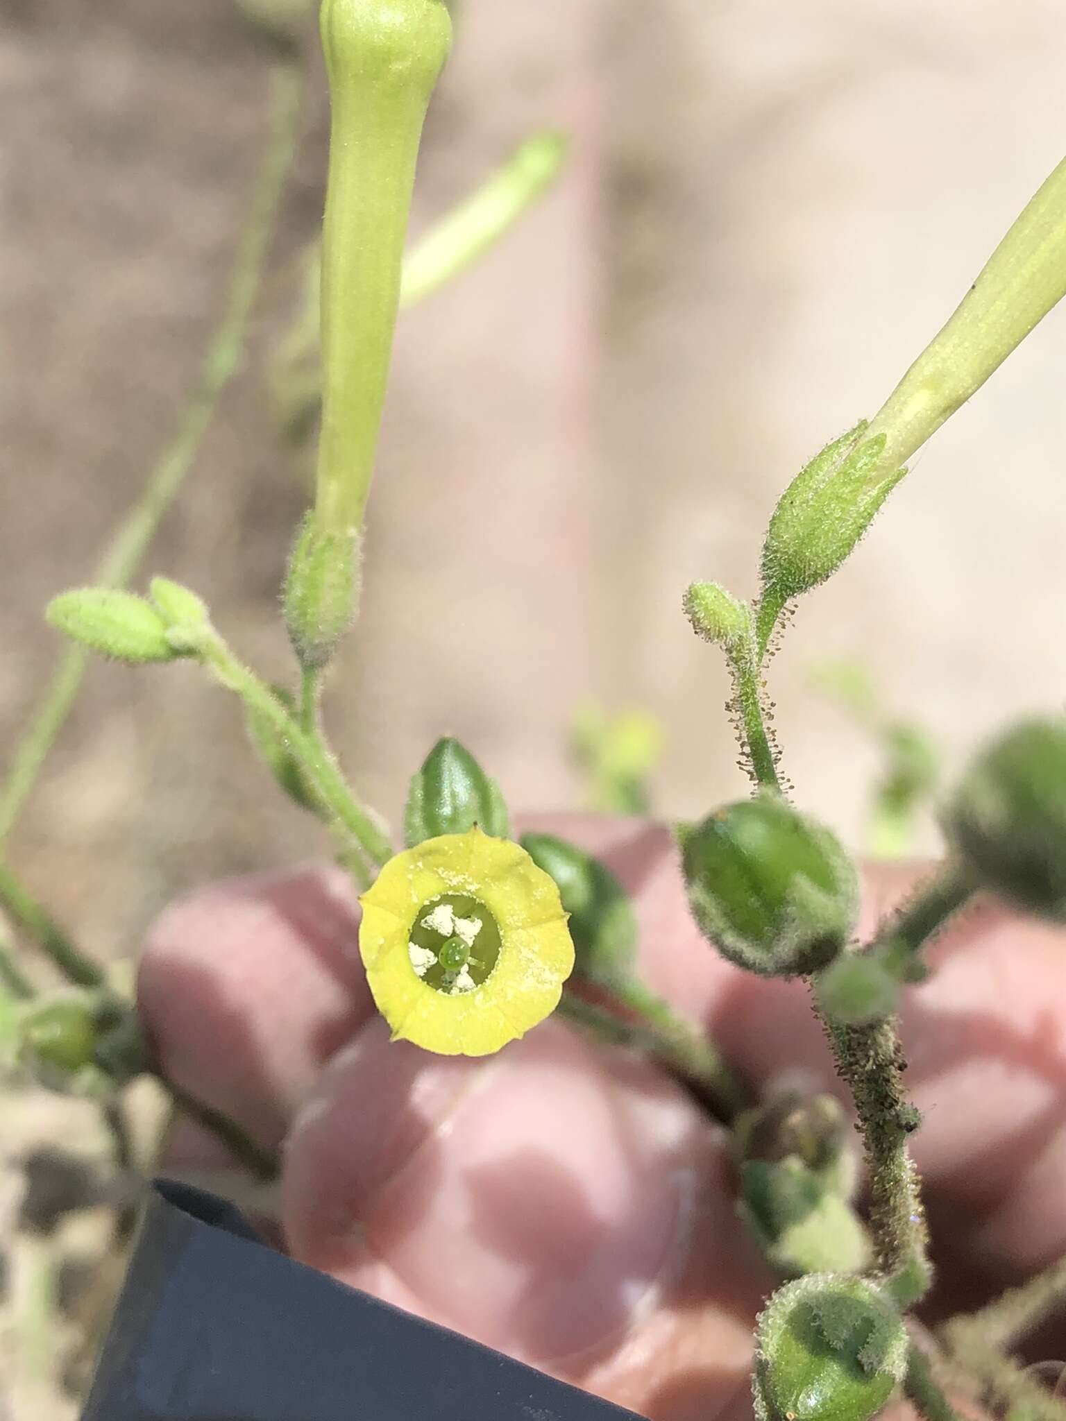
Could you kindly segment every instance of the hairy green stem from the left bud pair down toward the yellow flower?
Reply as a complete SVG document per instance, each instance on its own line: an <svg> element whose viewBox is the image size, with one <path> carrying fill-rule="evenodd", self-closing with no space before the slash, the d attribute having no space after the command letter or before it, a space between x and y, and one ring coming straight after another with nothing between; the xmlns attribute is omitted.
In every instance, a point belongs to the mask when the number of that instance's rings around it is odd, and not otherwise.
<svg viewBox="0 0 1066 1421"><path fill-rule="evenodd" d="M233 655L226 642L212 634L199 648L202 662L217 681L260 715L289 747L323 807L348 831L372 865L392 857L388 836L374 816L355 799L337 760L318 732L307 733L298 719L259 676Z"/></svg>

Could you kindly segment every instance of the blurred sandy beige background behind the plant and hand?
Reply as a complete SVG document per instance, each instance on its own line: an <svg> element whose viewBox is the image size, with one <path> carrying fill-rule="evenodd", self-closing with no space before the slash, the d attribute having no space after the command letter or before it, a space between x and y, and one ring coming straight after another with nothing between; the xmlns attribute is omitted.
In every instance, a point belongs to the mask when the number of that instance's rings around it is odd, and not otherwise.
<svg viewBox="0 0 1066 1421"><path fill-rule="evenodd" d="M172 426L260 148L267 55L227 0L0 0L0 747L77 584ZM321 209L317 58L249 368L149 570L284 675L304 490L263 361ZM874 412L1066 151L1056 0L463 0L418 225L530 128L564 185L405 318L368 594L330 720L395 813L443 732L516 804L574 800L570 712L662 716L665 813L741 789L692 577L753 591L787 477ZM803 803L858 831L871 756L804 685L861 655L957 762L1066 684L1066 313L920 456L775 665ZM0 759L3 756L0 755ZM128 952L172 892L318 851L188 669L94 668L16 860Z"/></svg>

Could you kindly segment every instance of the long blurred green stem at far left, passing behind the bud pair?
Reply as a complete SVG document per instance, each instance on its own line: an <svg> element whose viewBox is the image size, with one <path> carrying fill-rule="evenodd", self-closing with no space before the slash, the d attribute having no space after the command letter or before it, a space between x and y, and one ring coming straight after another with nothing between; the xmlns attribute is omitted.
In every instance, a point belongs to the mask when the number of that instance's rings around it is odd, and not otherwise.
<svg viewBox="0 0 1066 1421"><path fill-rule="evenodd" d="M126 587L138 571L155 533L192 469L219 399L236 374L249 317L263 277L274 215L296 151L303 78L294 64L274 70L270 139L256 178L247 225L237 247L222 320L212 334L200 375L173 438L148 475L136 504L112 536L97 564L97 585ZM26 732L11 757L0 791L0 854L11 837L53 745L70 716L88 665L90 652L70 647L61 652Z"/></svg>

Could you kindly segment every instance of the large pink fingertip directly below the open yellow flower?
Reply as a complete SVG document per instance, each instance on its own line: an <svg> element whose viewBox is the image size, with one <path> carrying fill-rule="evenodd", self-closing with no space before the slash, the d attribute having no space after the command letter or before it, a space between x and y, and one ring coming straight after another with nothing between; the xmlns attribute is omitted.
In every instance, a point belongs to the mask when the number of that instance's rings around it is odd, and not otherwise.
<svg viewBox="0 0 1066 1421"><path fill-rule="evenodd" d="M559 1023L478 1063L375 1022L296 1121L286 1232L314 1266L557 1367L617 1340L684 1262L708 1130Z"/></svg>

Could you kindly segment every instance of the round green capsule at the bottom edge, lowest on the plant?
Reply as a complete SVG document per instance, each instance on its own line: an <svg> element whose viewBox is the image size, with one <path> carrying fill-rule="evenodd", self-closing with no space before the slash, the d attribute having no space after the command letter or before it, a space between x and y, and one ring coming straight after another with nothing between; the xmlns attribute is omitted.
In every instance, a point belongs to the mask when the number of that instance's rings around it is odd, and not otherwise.
<svg viewBox="0 0 1066 1421"><path fill-rule="evenodd" d="M907 1374L910 1340L861 1277L810 1273L779 1289L756 1329L759 1421L870 1421Z"/></svg>

